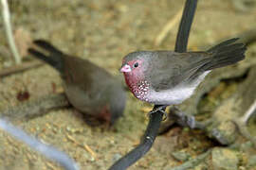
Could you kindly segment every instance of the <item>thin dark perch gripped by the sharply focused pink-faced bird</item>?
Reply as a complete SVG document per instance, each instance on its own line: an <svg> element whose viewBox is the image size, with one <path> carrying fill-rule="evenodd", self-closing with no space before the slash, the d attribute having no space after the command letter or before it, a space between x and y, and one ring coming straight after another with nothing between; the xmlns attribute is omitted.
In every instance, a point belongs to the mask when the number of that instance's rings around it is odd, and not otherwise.
<svg viewBox="0 0 256 170"><path fill-rule="evenodd" d="M196 10L197 0L187 0L185 8L183 9L182 19L179 25L178 34L176 37L175 50L176 52L186 52L187 43L190 35L192 26L192 19ZM154 109L157 108L166 109L163 106L155 105ZM125 170L127 167L134 164L141 157L143 157L152 147L155 142L155 137L158 134L158 129L163 118L163 111L159 110L153 114L150 114L150 121L145 131L142 142L137 145L132 151L126 154L124 157L115 162L109 170Z"/></svg>

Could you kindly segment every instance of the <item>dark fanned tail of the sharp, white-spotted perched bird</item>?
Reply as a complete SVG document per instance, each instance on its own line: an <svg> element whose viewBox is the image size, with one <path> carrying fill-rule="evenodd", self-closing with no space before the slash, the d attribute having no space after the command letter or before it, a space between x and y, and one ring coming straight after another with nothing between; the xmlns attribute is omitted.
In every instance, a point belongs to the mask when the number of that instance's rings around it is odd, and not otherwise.
<svg viewBox="0 0 256 170"><path fill-rule="evenodd" d="M244 43L234 43L237 40L238 38L230 39L211 47L207 52L212 54L212 59L204 66L205 70L224 67L245 59L247 47Z"/></svg>

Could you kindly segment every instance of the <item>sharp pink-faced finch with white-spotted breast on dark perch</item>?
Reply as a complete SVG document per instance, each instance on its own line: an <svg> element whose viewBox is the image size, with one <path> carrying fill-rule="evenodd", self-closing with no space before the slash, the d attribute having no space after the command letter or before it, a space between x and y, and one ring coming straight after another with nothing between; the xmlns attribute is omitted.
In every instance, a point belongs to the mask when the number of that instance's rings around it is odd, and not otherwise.
<svg viewBox="0 0 256 170"><path fill-rule="evenodd" d="M207 51L133 52L123 58L120 72L139 100L163 107L180 104L212 69L245 59L246 47L237 40L221 42Z"/></svg>

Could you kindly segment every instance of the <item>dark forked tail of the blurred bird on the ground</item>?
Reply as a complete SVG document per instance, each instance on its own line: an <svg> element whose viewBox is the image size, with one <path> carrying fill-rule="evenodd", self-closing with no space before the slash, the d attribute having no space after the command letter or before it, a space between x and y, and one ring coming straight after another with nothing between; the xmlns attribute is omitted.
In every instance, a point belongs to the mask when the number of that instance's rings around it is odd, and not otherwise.
<svg viewBox="0 0 256 170"><path fill-rule="evenodd" d="M63 73L64 71L64 53L58 50L49 42L44 40L36 40L33 42L36 47L39 48L28 48L28 53L37 59L46 61L53 68Z"/></svg>

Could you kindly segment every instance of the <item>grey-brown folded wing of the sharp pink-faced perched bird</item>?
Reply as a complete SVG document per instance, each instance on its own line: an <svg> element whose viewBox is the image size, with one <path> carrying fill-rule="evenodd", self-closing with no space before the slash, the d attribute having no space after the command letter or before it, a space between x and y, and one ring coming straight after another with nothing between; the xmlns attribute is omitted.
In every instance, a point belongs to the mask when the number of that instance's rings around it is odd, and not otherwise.
<svg viewBox="0 0 256 170"><path fill-rule="evenodd" d="M210 61L210 54L206 52L175 53L173 51L157 51L151 59L146 73L153 89L158 92L172 89L182 82L191 81L200 68Z"/></svg>

